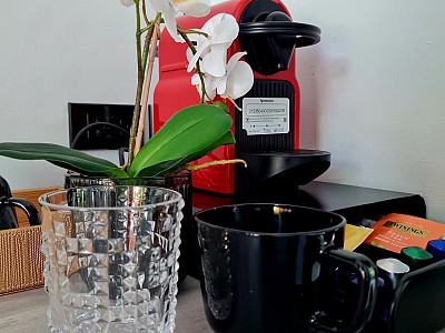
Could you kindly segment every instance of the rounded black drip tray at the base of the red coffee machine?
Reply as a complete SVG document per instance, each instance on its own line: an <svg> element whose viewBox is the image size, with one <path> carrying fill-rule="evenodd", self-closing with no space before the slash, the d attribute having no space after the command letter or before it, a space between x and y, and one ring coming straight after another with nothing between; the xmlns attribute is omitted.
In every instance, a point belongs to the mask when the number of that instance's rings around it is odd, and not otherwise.
<svg viewBox="0 0 445 333"><path fill-rule="evenodd" d="M330 165L330 153L319 150L298 149L277 152L244 152L238 159L247 168L237 165L236 191L256 188L305 185L324 173Z"/></svg>

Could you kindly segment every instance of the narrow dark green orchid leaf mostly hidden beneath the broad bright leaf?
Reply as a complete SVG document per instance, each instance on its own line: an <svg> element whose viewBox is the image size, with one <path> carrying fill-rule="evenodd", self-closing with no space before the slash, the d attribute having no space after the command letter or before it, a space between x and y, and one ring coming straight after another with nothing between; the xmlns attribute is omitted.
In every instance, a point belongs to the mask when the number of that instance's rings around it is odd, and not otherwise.
<svg viewBox="0 0 445 333"><path fill-rule="evenodd" d="M209 152L211 152L214 149L225 145L225 144L234 144L235 143L235 138L231 134L230 131L228 131L222 138L220 138L218 141L214 142L210 147L207 147L200 151L197 151L194 154L190 154L186 158L182 159L177 159L177 160L169 160L165 161L155 165L147 167L142 169L138 175L139 176L147 176L147 175L164 175L168 172L175 171L178 168L182 167L184 164L187 164L188 162L195 161L199 158L202 158L207 155Z"/></svg>

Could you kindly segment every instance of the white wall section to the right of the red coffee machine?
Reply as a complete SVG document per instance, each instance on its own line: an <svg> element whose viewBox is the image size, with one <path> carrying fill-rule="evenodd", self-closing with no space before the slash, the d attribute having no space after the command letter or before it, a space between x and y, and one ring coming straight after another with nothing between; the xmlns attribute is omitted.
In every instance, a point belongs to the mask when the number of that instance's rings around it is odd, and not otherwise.
<svg viewBox="0 0 445 333"><path fill-rule="evenodd" d="M285 1L322 28L299 49L301 143L324 181L421 193L445 222L445 2Z"/></svg>

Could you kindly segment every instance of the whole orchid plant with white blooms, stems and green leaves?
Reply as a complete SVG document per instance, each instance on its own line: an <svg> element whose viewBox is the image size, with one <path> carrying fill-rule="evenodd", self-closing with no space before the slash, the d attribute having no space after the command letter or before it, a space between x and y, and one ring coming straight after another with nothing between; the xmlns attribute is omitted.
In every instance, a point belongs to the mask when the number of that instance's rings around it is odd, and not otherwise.
<svg viewBox="0 0 445 333"><path fill-rule="evenodd" d="M230 160L188 165L220 145L235 143L228 107L221 101L235 104L235 100L246 94L254 83L253 70L240 60L245 52L227 59L227 50L239 32L238 23L233 16L219 13L201 29L184 30L177 24L176 16L207 16L210 8L202 0L149 1L156 11L152 20L148 19L146 0L120 0L123 6L136 10L138 73L129 153L125 165L118 167L110 161L51 143L3 142L0 143L0 155L47 160L86 175L110 178L165 175L182 169L243 162ZM179 110L141 147L144 114L161 24L175 41L188 46L185 57L189 61L190 83L197 87L200 103Z"/></svg>

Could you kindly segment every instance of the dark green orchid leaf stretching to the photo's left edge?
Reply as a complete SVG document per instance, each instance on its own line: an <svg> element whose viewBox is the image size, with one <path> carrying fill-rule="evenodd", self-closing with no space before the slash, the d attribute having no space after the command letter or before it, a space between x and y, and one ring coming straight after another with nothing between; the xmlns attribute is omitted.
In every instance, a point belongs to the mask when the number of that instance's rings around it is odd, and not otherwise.
<svg viewBox="0 0 445 333"><path fill-rule="evenodd" d="M53 143L1 142L0 155L17 160L47 160L48 162L87 175L128 178L110 161Z"/></svg>

